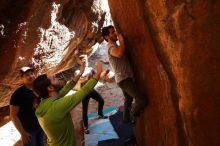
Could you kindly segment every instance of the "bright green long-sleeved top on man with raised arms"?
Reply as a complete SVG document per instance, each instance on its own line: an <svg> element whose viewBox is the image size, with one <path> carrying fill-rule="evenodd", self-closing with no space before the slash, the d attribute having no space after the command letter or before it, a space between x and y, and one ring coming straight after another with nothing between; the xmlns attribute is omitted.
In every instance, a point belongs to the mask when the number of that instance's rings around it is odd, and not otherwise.
<svg viewBox="0 0 220 146"><path fill-rule="evenodd" d="M35 114L47 135L50 146L76 146L74 125L70 110L89 94L96 83L97 80L91 78L75 94L64 96L74 86L73 83L69 82L59 92L61 98L47 98L41 101Z"/></svg>

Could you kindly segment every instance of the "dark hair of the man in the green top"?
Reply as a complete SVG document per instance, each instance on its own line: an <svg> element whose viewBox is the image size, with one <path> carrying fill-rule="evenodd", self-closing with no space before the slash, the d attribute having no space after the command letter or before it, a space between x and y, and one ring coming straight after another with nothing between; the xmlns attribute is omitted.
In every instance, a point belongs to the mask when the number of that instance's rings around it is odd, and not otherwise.
<svg viewBox="0 0 220 146"><path fill-rule="evenodd" d="M33 83L34 92L38 94L39 98L48 98L47 88L51 85L50 79L46 74L38 76Z"/></svg>

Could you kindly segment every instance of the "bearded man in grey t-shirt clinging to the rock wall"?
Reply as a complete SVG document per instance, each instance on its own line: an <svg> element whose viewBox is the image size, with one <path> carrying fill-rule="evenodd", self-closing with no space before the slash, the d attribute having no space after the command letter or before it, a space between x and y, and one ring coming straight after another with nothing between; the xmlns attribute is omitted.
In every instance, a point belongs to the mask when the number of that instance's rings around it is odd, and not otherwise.
<svg viewBox="0 0 220 146"><path fill-rule="evenodd" d="M139 92L133 79L133 72L125 54L123 36L117 35L112 25L102 28L102 36L107 41L108 59L115 73L116 83L125 96L123 122L131 122L130 112L132 117L136 119L147 105L147 98ZM120 45L116 43L117 40L119 40ZM133 98L135 98L135 104L132 108Z"/></svg>

